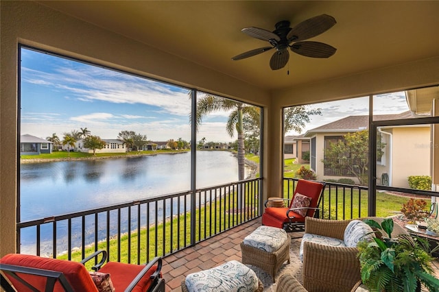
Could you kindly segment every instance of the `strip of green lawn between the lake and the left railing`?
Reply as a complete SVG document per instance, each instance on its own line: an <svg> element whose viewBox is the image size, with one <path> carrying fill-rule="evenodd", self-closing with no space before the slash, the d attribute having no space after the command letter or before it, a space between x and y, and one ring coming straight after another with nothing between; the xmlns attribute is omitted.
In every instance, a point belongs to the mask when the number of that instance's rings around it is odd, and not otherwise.
<svg viewBox="0 0 439 292"><path fill-rule="evenodd" d="M236 206L237 195L236 193L233 195L235 200L235 204L233 204L233 206ZM206 239L213 234L217 234L222 230L228 229L229 226L233 227L237 225L237 223L241 222L241 217L239 217L240 215L228 215L227 213L226 218L224 218L224 210L228 210L230 208L229 204L232 205L232 202L229 202L229 199L231 200L231 197L226 195L222 199L213 201L212 204L206 204L202 208L195 211L195 241ZM246 198L246 202L250 202L254 206L257 206L258 204L257 201L254 201L254 199L251 199L250 197ZM221 208L219 208L220 205ZM249 204L247 204L247 206L249 206ZM252 216L256 217L257 214L253 213ZM128 250L130 250L130 263L137 263L138 244L140 245L140 263L146 263L147 261L152 260L156 254L158 256L163 256L163 254L169 254L181 247L189 246L191 243L190 221L191 213L187 212L186 215L180 215L178 217L174 217L172 221L166 221L164 225L163 223L158 223L156 226L152 226L149 229L143 228L140 231L140 243L138 241L138 233L134 230L130 237L128 237L128 234L121 235L120 243L117 239L117 236L115 236L109 241L109 260L117 261L118 257L120 257L121 262L128 263ZM174 231L172 236L171 225L172 230ZM176 232L176 230L179 230L179 232ZM165 236L165 243L163 241L163 236ZM98 243L97 250L106 250L107 244L108 243L106 241ZM118 247L120 250L120 255L117 254ZM93 252L95 252L95 245L92 244L87 246L84 257L93 254ZM68 259L67 254L60 255L58 258ZM82 252L72 252L71 260L77 262L82 260ZM86 265L86 267L91 269L91 266L93 265L94 261L92 260Z"/></svg>

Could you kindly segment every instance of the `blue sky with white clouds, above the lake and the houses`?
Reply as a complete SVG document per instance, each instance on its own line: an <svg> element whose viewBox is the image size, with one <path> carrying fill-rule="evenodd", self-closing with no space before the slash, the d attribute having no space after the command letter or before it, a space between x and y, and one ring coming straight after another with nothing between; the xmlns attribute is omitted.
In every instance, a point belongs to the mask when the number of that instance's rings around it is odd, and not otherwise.
<svg viewBox="0 0 439 292"><path fill-rule="evenodd" d="M310 107L321 108L322 116L311 117L305 131L348 115L368 114L368 97ZM375 114L408 110L404 93L375 97L374 108ZM132 130L152 141L190 141L190 111L186 88L21 50L21 134L46 138L56 133L62 138L65 132L87 127L101 138ZM228 112L206 117L197 140L235 141L236 136L226 134L227 117Z"/></svg>

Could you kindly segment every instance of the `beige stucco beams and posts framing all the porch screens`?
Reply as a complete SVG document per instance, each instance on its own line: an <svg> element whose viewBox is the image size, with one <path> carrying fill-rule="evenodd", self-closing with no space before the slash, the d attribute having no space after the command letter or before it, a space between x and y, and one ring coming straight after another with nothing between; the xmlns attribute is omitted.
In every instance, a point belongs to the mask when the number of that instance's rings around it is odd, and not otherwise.
<svg viewBox="0 0 439 292"><path fill-rule="evenodd" d="M272 93L32 1L0 1L0 256L15 251L18 44L263 106L263 197L281 193L284 106L439 82L439 56Z"/></svg>

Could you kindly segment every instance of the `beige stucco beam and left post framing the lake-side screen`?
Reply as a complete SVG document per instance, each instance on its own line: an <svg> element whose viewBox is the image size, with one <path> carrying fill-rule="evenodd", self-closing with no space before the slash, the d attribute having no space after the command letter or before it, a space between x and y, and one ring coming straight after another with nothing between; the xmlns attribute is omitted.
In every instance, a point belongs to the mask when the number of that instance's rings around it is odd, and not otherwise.
<svg viewBox="0 0 439 292"><path fill-rule="evenodd" d="M270 93L257 86L73 19L32 1L0 1L0 12L0 256L14 252L16 241L19 43L177 85L251 101L265 108L270 101ZM264 122L267 124L271 112L264 110L264 113ZM278 119L278 115L275 118ZM264 141L269 139L272 139L271 134L265 134ZM268 149L270 147L265 150ZM280 150L278 152L281 153Z"/></svg>

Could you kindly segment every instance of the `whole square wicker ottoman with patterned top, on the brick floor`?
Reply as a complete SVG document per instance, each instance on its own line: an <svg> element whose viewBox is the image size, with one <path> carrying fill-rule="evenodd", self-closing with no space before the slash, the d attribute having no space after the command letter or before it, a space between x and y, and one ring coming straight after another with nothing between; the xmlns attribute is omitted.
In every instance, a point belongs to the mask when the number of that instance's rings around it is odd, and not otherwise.
<svg viewBox="0 0 439 292"><path fill-rule="evenodd" d="M289 263L291 237L281 228L260 226L241 242L242 263L267 271L273 278L285 260Z"/></svg>

